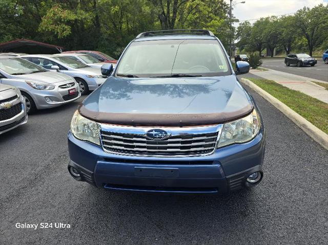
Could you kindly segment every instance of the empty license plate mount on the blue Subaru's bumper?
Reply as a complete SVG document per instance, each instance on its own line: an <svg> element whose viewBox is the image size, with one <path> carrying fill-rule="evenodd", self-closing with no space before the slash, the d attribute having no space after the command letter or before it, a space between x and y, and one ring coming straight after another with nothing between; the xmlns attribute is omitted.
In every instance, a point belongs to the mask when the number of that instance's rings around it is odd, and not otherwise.
<svg viewBox="0 0 328 245"><path fill-rule="evenodd" d="M134 167L135 176L143 177L178 177L178 168Z"/></svg>

